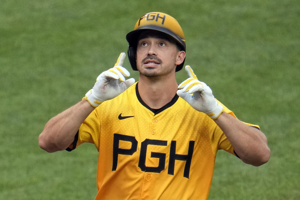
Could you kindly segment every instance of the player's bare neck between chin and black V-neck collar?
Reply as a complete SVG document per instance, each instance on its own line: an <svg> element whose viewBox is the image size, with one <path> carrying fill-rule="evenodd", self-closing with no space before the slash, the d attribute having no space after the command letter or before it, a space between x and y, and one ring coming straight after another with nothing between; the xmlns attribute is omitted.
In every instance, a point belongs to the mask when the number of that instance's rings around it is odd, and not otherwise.
<svg viewBox="0 0 300 200"><path fill-rule="evenodd" d="M140 74L138 92L150 108L158 109L169 103L177 92L175 73L169 77L145 77Z"/></svg>

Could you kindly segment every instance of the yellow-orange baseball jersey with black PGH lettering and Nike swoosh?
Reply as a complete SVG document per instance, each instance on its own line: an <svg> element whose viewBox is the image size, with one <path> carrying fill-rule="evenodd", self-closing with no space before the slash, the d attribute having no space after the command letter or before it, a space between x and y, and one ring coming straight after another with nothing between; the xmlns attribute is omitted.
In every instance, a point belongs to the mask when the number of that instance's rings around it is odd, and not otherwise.
<svg viewBox="0 0 300 200"><path fill-rule="evenodd" d="M76 137L69 148L88 142L99 151L97 200L207 199L217 150L234 154L206 114L177 95L151 109L137 83L100 104Z"/></svg>

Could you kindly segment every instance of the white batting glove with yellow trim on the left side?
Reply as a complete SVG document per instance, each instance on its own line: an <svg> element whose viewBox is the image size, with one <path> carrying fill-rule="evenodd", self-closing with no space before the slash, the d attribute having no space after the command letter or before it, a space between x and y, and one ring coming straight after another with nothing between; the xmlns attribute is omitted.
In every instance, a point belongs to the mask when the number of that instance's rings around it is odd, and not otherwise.
<svg viewBox="0 0 300 200"><path fill-rule="evenodd" d="M85 94L84 98L91 106L97 107L102 102L117 97L135 82L134 78L125 80L125 77L130 76L127 69L122 67L125 57L126 54L121 53L115 66L101 73L94 87Z"/></svg>

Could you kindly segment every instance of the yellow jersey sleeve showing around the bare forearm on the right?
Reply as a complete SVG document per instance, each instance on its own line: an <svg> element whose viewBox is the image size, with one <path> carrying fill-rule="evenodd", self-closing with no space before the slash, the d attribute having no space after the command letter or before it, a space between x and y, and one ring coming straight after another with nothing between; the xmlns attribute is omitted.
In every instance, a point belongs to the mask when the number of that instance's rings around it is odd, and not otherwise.
<svg viewBox="0 0 300 200"><path fill-rule="evenodd" d="M217 100L218 101L218 100ZM224 109L224 112L230 114L231 116L237 118L235 116L235 114L229 110L226 106L224 106L221 102L218 101L218 103L220 103L222 106L223 106L223 109ZM243 122L245 123L245 122ZM252 126L254 128L257 128L257 129L260 129L258 125L254 125L254 124L250 124L250 123L245 123L247 124L248 126ZM229 153L232 153L233 155L236 155L238 157L238 155L234 152L234 149L232 147L232 144L229 142L229 140L227 139L226 135L223 133L223 131L221 130L220 127L216 126L216 129L214 131L214 135L215 136L218 136L218 137L215 137L218 139L218 148L217 149L223 149Z"/></svg>

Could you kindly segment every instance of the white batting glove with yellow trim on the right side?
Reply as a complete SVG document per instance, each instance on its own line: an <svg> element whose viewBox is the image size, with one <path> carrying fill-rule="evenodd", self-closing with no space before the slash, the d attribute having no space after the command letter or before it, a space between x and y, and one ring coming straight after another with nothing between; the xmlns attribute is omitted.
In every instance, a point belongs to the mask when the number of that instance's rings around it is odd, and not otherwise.
<svg viewBox="0 0 300 200"><path fill-rule="evenodd" d="M190 78L183 81L177 90L179 97L187 101L195 110L206 113L210 118L217 119L223 112L223 107L212 95L212 90L197 79L190 66L185 66Z"/></svg>

